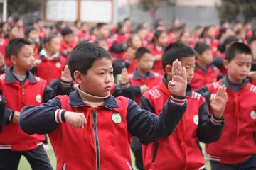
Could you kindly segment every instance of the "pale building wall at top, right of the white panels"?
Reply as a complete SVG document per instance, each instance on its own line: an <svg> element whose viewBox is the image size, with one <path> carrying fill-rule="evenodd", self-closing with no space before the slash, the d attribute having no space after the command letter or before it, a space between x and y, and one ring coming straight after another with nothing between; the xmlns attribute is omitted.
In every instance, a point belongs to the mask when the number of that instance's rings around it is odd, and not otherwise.
<svg viewBox="0 0 256 170"><path fill-rule="evenodd" d="M148 21L152 23L149 11L137 8L138 0L118 0L118 19L130 17L134 23ZM218 24L220 19L215 10L215 4L220 0L176 0L176 4L169 6L164 4L156 11L156 18L162 18L166 24L170 24L174 18L181 23L189 23L191 26L206 26Z"/></svg>

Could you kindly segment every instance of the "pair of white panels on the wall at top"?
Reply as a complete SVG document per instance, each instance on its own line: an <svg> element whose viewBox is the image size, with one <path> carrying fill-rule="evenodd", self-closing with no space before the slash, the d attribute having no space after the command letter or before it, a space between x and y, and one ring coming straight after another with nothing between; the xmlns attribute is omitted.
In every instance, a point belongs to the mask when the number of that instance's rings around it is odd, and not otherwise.
<svg viewBox="0 0 256 170"><path fill-rule="evenodd" d="M46 0L46 21L70 21L80 19L88 23L113 23L114 0Z"/></svg>

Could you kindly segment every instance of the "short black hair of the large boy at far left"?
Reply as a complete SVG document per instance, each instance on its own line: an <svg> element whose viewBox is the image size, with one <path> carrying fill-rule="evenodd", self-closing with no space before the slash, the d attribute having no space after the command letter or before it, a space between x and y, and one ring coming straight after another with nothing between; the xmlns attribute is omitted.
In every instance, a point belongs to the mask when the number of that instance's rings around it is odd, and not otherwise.
<svg viewBox="0 0 256 170"><path fill-rule="evenodd" d="M18 56L18 52L24 45L31 45L31 42L24 38L14 38L12 39L6 49L6 56L11 58L11 56Z"/></svg>

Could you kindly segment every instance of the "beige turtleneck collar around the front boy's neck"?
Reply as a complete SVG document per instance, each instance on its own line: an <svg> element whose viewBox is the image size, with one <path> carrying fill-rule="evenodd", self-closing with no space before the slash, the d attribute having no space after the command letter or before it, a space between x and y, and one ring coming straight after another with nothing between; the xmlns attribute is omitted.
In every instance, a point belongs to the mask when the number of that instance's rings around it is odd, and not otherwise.
<svg viewBox="0 0 256 170"><path fill-rule="evenodd" d="M78 86L78 93L82 101L84 101L88 106L91 106L91 107L97 107L102 105L104 103L105 98L110 96L110 94L104 97L93 96L92 94L88 94L82 89L80 89L80 86Z"/></svg>

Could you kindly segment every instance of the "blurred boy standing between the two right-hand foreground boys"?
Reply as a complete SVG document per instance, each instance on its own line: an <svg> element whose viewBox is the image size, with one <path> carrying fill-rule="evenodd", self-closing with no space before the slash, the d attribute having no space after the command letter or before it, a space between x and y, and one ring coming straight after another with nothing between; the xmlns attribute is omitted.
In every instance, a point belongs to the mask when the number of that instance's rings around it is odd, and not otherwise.
<svg viewBox="0 0 256 170"><path fill-rule="evenodd" d="M196 44L197 62L193 79L190 83L192 90L197 90L206 84L213 83L221 79L220 70L212 64L213 54L210 46L206 43Z"/></svg>

